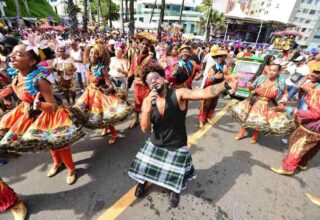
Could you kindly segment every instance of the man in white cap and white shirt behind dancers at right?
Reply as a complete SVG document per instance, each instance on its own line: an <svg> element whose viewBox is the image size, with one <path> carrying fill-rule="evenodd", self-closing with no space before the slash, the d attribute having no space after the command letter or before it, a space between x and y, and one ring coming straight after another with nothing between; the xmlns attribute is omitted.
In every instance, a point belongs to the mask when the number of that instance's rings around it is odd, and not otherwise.
<svg viewBox="0 0 320 220"><path fill-rule="evenodd" d="M286 79L286 85L288 88L288 100L291 100L298 93L299 87L305 82L306 77L310 70L305 64L304 56L298 56L293 60L294 65L288 67L287 71L290 76Z"/></svg>

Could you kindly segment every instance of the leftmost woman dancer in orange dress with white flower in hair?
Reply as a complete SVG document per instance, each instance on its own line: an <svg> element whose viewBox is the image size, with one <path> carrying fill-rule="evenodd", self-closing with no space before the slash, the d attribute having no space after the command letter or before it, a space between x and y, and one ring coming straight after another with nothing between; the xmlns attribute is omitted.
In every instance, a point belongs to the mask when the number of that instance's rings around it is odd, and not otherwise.
<svg viewBox="0 0 320 220"><path fill-rule="evenodd" d="M72 113L59 106L53 96L52 75L38 65L44 54L37 40L22 41L11 54L9 73L12 83L0 92L0 98L15 93L21 103L0 119L0 152L36 152L50 149L54 176L64 164L67 183L76 180L70 145L84 133L74 124Z"/></svg>

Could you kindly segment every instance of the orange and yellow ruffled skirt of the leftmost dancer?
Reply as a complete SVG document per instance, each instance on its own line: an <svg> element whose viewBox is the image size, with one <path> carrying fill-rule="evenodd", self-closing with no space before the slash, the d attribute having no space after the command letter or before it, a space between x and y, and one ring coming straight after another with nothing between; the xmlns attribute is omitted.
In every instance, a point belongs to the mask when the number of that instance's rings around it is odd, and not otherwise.
<svg viewBox="0 0 320 220"><path fill-rule="evenodd" d="M36 152L72 144L84 136L72 113L63 106L29 118L30 104L20 103L0 119L0 152Z"/></svg>

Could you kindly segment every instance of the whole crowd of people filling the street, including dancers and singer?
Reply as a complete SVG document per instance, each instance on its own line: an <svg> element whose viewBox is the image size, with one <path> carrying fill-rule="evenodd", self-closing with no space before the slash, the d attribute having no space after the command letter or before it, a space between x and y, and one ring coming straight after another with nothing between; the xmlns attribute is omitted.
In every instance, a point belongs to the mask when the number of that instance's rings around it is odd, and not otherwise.
<svg viewBox="0 0 320 220"><path fill-rule="evenodd" d="M142 132L151 132L128 172L139 183L135 195L143 196L151 182L170 190L169 204L177 207L186 182L196 177L187 148L188 103L200 101L200 129L211 123L219 99L230 99L237 90L239 76L232 69L250 56L263 56L264 63L247 82L251 95L230 108L240 124L235 139L244 138L247 129L254 129L252 144L260 134L281 135L284 143L289 136L288 155L271 168L283 175L307 170L320 149L320 54L294 48L274 57L254 46L158 42L149 32L129 39L34 30L7 33L0 44L0 152L48 150L53 165L47 176L64 165L68 184L76 182L70 146L85 135L82 128L102 129L102 136L110 130L113 144L117 123L134 112L129 128L140 124ZM194 81L199 88L193 88ZM307 196L320 205L320 197ZM15 219L27 212L0 179L0 212L6 210Z"/></svg>

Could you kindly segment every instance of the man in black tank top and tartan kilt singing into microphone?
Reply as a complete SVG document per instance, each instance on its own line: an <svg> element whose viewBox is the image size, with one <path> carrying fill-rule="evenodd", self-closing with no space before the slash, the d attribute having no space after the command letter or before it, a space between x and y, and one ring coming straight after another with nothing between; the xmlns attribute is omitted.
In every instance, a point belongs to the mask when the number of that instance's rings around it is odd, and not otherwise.
<svg viewBox="0 0 320 220"><path fill-rule="evenodd" d="M142 197L146 183L151 182L169 189L169 204L177 207L181 190L188 180L195 178L187 148L187 102L217 97L227 85L222 82L202 90L168 88L164 70L158 65L147 67L142 73L142 81L150 89L156 88L143 101L140 122L143 132L150 132L151 127L153 131L136 155L128 174L139 182L136 197Z"/></svg>

